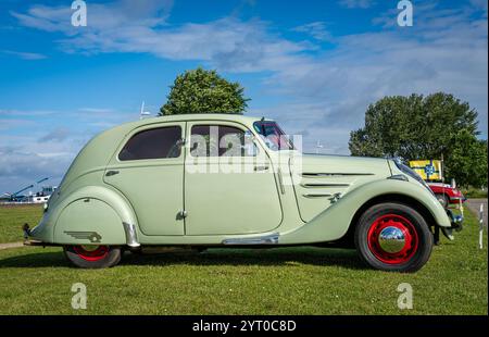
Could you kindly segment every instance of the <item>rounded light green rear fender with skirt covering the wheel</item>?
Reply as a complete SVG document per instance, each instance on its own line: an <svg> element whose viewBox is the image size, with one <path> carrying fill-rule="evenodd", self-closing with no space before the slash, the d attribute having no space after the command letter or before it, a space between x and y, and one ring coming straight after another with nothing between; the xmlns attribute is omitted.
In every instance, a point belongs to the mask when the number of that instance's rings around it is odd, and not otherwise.
<svg viewBox="0 0 489 337"><path fill-rule="evenodd" d="M85 186L48 209L30 236L60 245L127 245L134 244L127 232L136 224L131 207L117 192ZM128 225L133 227L127 228Z"/></svg>

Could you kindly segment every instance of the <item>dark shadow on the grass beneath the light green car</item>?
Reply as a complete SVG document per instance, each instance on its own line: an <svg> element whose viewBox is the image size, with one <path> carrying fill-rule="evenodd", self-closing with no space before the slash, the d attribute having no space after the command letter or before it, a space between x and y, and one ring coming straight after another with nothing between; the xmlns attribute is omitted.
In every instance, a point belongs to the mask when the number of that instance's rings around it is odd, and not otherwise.
<svg viewBox="0 0 489 337"><path fill-rule="evenodd" d="M350 270L368 269L360 261L354 250L330 248L272 248L272 249L222 249L213 248L203 252L176 251L164 253L130 253L125 252L120 265L334 265ZM25 254L16 254L0 260L0 269L3 267L72 267L63 252L26 251Z"/></svg>

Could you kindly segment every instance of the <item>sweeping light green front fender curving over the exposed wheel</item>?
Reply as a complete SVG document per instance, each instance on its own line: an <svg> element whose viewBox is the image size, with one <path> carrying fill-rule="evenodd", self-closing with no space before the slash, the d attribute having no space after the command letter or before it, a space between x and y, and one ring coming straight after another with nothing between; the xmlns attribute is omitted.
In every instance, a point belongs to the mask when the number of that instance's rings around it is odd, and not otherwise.
<svg viewBox="0 0 489 337"><path fill-rule="evenodd" d="M374 180L346 194L331 207L303 226L280 235L279 244L324 242L340 239L360 208L383 195L401 195L422 203L434 216L437 225L450 227L450 220L438 200L417 182L398 179Z"/></svg>

